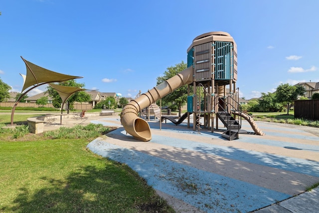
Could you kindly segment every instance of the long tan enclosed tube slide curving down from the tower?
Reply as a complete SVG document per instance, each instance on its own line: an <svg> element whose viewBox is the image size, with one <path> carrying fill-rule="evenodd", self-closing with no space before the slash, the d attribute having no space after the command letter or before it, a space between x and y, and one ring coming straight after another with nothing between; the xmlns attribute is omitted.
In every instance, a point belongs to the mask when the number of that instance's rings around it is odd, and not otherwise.
<svg viewBox="0 0 319 213"><path fill-rule="evenodd" d="M126 132L137 140L150 141L152 139L150 126L148 122L138 116L138 112L175 89L191 83L193 80L192 75L193 68L190 66L125 105L121 113L121 123Z"/></svg>

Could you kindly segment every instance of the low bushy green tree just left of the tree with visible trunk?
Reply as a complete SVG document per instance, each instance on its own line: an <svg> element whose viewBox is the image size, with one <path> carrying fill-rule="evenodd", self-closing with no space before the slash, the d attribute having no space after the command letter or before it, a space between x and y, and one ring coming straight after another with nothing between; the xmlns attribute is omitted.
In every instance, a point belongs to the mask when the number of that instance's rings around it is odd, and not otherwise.
<svg viewBox="0 0 319 213"><path fill-rule="evenodd" d="M276 100L276 94L268 92L267 94L262 92L262 96L258 100L262 111L266 112L280 112L283 110L283 104L278 103Z"/></svg>

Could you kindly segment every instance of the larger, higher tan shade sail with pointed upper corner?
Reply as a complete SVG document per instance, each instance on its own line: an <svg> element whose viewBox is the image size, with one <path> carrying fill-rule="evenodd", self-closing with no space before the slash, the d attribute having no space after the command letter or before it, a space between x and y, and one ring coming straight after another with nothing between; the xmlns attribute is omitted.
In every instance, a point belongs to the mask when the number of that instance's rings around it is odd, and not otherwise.
<svg viewBox="0 0 319 213"><path fill-rule="evenodd" d="M22 58L22 56L21 56ZM22 92L33 85L38 85L40 83L51 83L51 82L61 82L66 80L71 80L75 78L82 78L79 76L73 76L73 75L65 75L62 73L54 72L45 68L42 68L38 65L35 65L24 58L22 60L25 63L26 66L26 75L22 75L24 83L22 87Z"/></svg>

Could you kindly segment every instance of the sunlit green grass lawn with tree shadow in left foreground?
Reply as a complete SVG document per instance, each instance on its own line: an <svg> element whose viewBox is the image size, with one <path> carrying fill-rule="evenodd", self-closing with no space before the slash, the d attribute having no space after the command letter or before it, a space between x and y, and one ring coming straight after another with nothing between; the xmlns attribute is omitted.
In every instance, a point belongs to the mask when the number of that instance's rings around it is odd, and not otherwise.
<svg viewBox="0 0 319 213"><path fill-rule="evenodd" d="M0 116L1 125L10 117ZM24 119L17 115L15 121ZM128 166L86 149L94 137L84 132L98 126L89 125L71 139L76 129L17 139L0 129L0 213L174 212Z"/></svg>

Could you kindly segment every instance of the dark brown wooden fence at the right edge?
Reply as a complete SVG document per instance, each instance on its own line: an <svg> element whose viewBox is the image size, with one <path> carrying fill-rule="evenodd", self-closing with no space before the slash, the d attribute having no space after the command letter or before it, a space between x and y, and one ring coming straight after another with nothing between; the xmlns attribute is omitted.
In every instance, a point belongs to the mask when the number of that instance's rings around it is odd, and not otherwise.
<svg viewBox="0 0 319 213"><path fill-rule="evenodd" d="M295 118L319 120L319 99L295 101Z"/></svg>

